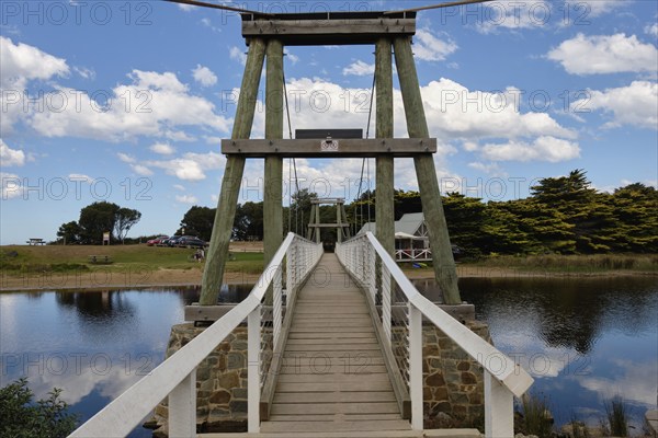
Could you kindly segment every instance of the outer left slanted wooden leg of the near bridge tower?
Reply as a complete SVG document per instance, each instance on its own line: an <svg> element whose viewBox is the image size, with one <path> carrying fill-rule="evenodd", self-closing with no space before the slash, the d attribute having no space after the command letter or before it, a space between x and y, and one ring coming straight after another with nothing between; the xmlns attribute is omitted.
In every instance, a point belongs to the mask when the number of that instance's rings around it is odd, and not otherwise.
<svg viewBox="0 0 658 438"><path fill-rule="evenodd" d="M247 139L251 136L256 100L260 84L261 71L265 58L265 43L260 38L251 41L249 56L242 77L240 99L236 111L232 139ZM224 280L224 268L228 258L228 244L232 234L240 183L245 173L245 158L230 155L226 160L226 169L222 181L222 192L217 203L217 214L213 224L213 237L206 258L201 289L201 306L215 306Z"/></svg>

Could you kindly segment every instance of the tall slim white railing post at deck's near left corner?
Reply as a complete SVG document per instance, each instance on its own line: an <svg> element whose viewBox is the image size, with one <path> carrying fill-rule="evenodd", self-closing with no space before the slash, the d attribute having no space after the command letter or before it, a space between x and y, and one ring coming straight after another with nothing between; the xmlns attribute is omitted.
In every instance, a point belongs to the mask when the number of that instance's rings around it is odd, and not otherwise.
<svg viewBox="0 0 658 438"><path fill-rule="evenodd" d="M247 318L247 429L249 434L260 433L261 307L257 307Z"/></svg>

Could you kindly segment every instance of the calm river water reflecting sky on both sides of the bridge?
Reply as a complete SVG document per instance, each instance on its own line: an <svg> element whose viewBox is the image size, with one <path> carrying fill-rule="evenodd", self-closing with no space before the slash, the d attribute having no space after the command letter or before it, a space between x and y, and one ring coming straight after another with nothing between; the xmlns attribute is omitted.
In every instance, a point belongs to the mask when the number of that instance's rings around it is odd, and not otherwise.
<svg viewBox="0 0 658 438"><path fill-rule="evenodd" d="M417 281L436 296L433 281ZM620 278L466 278L496 346L535 378L557 424L599 424L622 395L634 426L658 394L658 281ZM249 286L223 290L236 302ZM163 359L171 325L197 288L0 293L0 385L27 376L37 397L64 389L87 419ZM655 407L654 407L655 408ZM132 437L150 433L135 430Z"/></svg>

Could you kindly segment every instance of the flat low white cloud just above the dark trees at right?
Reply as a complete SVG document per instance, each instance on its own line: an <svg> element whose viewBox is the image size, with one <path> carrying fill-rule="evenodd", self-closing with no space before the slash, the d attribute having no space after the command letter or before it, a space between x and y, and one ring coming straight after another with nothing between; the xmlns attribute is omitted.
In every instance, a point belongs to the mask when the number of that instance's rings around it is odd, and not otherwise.
<svg viewBox="0 0 658 438"><path fill-rule="evenodd" d="M580 157L578 143L555 137L540 137L532 142L487 143L481 154L491 161L548 161L557 163Z"/></svg>

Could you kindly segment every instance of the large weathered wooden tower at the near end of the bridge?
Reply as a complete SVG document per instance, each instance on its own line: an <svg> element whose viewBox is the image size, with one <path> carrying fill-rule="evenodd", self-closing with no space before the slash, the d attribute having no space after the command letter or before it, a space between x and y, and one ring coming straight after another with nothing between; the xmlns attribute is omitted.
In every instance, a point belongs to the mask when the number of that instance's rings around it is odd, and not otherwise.
<svg viewBox="0 0 658 438"><path fill-rule="evenodd" d="M238 204L240 182L248 158L265 160L264 257L270 262L283 241L282 182L284 158L376 159L377 239L392 255L395 251L394 160L413 158L422 209L434 255L434 274L446 304L460 304L457 276L429 138L411 38L416 11L331 12L307 14L243 13L242 36L249 46L235 125L230 140L222 141L227 155L217 216L203 275L202 306L217 303L228 244ZM284 46L374 45L376 80L376 138L340 140L283 139ZM402 93L410 138L395 138L393 108L393 53ZM266 62L265 62L266 60ZM265 80L265 139L250 140L261 71Z"/></svg>

